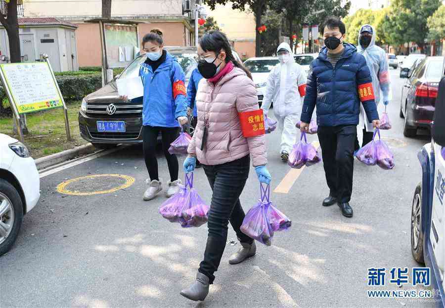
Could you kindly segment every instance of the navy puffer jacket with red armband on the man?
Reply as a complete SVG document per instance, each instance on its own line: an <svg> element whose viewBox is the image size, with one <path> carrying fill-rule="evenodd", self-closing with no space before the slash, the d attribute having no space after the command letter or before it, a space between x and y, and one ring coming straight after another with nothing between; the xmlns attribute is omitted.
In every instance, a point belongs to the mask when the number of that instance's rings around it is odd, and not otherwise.
<svg viewBox="0 0 445 308"><path fill-rule="evenodd" d="M368 119L379 119L366 60L354 45L345 43L344 46L343 56L335 68L327 59L326 47L312 61L302 122L311 122L316 105L319 126L357 125L360 101Z"/></svg>

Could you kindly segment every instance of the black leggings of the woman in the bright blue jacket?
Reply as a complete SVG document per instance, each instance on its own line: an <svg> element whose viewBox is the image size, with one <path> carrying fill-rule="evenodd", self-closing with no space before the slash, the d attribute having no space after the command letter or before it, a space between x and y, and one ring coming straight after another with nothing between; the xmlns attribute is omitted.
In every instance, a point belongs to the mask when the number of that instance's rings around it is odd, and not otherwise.
<svg viewBox="0 0 445 308"><path fill-rule="evenodd" d="M143 127L143 148L144 148L144 158L145 166L147 166L148 175L150 180L158 180L158 159L156 158L156 144L158 143L159 132L162 136L162 150L164 151L165 158L167 159L167 165L170 171L170 180L178 180L178 157L169 153L170 144L178 138L179 128L178 127L153 127L144 126Z"/></svg>

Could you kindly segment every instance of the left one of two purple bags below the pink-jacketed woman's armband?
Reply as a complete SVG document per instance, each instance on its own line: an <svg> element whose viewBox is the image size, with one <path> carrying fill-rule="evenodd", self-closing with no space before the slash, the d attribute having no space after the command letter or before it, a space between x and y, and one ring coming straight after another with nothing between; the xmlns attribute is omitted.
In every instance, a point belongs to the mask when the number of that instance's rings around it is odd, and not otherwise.
<svg viewBox="0 0 445 308"><path fill-rule="evenodd" d="M265 201L265 191L263 185L260 184L260 186L261 199L258 200L257 205L247 212L240 230L250 238L270 246L273 237L273 229L268 218L270 203Z"/></svg>

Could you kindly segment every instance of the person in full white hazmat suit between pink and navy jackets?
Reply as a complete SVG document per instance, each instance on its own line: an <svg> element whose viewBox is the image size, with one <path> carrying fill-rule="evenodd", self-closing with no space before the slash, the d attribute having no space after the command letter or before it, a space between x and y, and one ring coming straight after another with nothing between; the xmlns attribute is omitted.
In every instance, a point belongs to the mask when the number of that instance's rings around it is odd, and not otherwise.
<svg viewBox="0 0 445 308"><path fill-rule="evenodd" d="M281 159L287 162L297 137L295 124L300 120L307 77L303 68L295 62L288 43L281 43L276 50L280 63L267 77L266 93L261 108L267 116L273 101L273 113L281 131Z"/></svg>

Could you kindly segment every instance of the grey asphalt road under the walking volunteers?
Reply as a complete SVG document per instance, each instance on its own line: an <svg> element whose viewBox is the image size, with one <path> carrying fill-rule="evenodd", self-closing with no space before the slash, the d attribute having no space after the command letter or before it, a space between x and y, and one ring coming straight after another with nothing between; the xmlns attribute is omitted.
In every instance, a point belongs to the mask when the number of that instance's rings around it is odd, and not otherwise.
<svg viewBox="0 0 445 308"><path fill-rule="evenodd" d="M288 193L272 194L273 203L292 219L292 228L276 232L270 247L258 244L257 255L240 265L228 265L229 255L240 247L228 244L209 296L203 303L191 302L179 291L194 279L207 227L181 229L163 219L158 208L164 196L142 201L147 172L141 148L126 148L42 178L40 204L25 216L13 249L0 258L0 307L432 306L432 301L418 299L367 297L373 289L420 290L409 284L367 286L368 268L386 268L388 280L391 268L417 266L410 252L410 209L420 180L416 154L429 136L403 137L403 80L397 70L391 70L391 77L394 100L388 112L393 128L383 132L383 138L394 152L396 167L386 171L355 162L352 219L343 217L336 205L321 206L328 195L322 164L305 168ZM267 147L276 187L290 170L279 159L277 132L267 135ZM159 170L167 180L161 154ZM56 191L61 182L97 174L127 175L135 182L104 194ZM83 179L65 189L107 191L126 181ZM202 169L195 172L195 187L209 202L211 191ZM258 195L252 169L241 196L245 211ZM236 241L231 228L228 239Z"/></svg>

